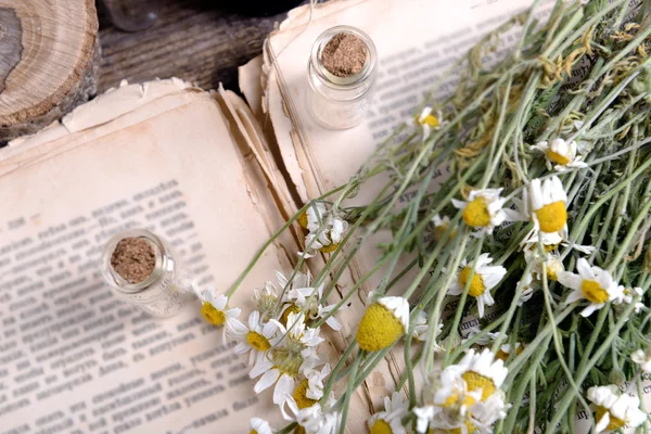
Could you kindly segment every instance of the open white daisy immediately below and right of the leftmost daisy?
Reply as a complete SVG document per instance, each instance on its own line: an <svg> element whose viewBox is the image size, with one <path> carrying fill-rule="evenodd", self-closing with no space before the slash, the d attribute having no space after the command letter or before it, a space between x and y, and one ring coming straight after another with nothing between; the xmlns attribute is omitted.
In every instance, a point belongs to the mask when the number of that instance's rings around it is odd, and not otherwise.
<svg viewBox="0 0 651 434"><path fill-rule="evenodd" d="M239 320L229 321L226 333L231 336L235 345L235 354L248 354L248 366L253 366L257 359L264 357L280 337L275 337L278 326L275 322L263 323L260 312L257 310L248 315L248 327Z"/></svg>

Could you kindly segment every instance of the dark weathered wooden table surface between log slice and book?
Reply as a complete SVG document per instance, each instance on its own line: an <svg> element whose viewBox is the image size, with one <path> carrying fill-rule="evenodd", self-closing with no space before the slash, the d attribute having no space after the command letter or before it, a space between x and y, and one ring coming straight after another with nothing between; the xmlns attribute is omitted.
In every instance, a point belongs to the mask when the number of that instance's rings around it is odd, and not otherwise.
<svg viewBox="0 0 651 434"><path fill-rule="evenodd" d="M158 18L138 33L118 30L100 8L100 92L123 78L136 82L174 76L204 89L215 89L221 81L239 91L238 66L260 54L273 23L285 17L244 16L228 12L219 1L150 1L158 4Z"/></svg>

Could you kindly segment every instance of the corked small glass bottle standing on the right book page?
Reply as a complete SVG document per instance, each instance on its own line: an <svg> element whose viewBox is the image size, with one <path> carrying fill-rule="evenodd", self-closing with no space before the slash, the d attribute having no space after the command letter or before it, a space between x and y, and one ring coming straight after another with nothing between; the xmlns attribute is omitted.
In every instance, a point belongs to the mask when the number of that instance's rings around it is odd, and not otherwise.
<svg viewBox="0 0 651 434"><path fill-rule="evenodd" d="M352 128L363 120L376 58L371 38L352 26L332 27L317 38L307 67L307 107L315 120L333 129Z"/></svg>

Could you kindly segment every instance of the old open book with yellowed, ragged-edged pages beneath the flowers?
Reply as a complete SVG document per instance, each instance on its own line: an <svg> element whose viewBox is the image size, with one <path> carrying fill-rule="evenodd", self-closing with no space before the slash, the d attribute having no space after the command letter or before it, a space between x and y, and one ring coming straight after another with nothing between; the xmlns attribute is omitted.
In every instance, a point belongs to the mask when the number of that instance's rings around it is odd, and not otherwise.
<svg viewBox="0 0 651 434"><path fill-rule="evenodd" d="M553 1L541 3L544 15ZM265 59L241 71L250 106L177 79L129 85L0 150L0 433L242 433L253 416L280 427L270 396L253 393L243 360L199 305L157 320L112 295L98 266L103 244L124 229L150 229L200 284L226 291L303 203L348 180L480 35L528 4L299 8L270 36ZM318 127L302 106L311 43L339 24L367 31L380 55L368 119L344 131ZM451 75L436 91L455 86ZM250 311L253 289L291 269L302 247L297 230L277 240L232 304ZM340 284L374 265L373 247L365 248ZM371 286L342 312L332 350L354 339ZM381 409L400 360L387 357L357 391L349 432L363 432Z"/></svg>

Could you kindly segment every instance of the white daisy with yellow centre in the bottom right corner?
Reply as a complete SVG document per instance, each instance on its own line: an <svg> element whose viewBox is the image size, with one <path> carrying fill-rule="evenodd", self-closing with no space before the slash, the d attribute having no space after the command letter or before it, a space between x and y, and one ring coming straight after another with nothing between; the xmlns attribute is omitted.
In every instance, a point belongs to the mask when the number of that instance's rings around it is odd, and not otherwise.
<svg viewBox="0 0 651 434"><path fill-rule="evenodd" d="M647 421L647 413L639 409L640 400L628 394L620 394L617 386L588 388L588 399L596 406L596 432L620 430L626 425L637 427Z"/></svg>

